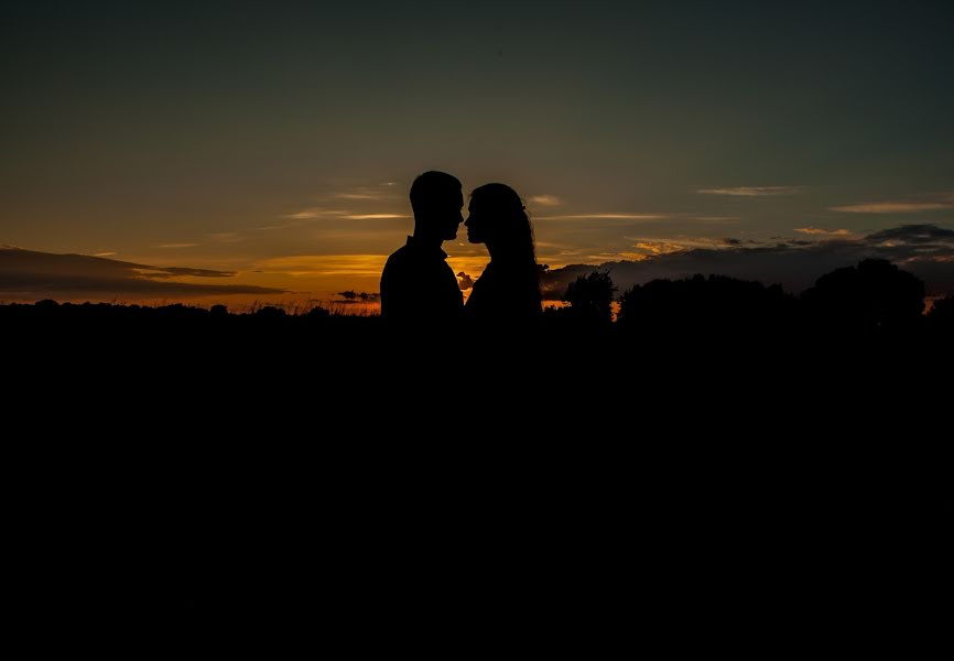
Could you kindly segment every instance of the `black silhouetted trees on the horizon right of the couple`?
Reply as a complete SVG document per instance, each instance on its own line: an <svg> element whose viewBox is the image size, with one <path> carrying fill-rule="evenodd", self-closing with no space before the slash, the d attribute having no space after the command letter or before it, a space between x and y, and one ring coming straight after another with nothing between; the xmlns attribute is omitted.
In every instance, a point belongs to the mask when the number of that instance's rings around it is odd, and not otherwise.
<svg viewBox="0 0 954 661"><path fill-rule="evenodd" d="M610 273L581 275L571 284L567 308L551 311L578 328L610 325L616 288ZM793 334L810 342L889 339L943 335L952 329L954 296L924 314L924 284L885 260L823 275L801 295L723 275L653 280L619 296L617 325L624 336L657 338L698 334L719 342L772 340Z"/></svg>

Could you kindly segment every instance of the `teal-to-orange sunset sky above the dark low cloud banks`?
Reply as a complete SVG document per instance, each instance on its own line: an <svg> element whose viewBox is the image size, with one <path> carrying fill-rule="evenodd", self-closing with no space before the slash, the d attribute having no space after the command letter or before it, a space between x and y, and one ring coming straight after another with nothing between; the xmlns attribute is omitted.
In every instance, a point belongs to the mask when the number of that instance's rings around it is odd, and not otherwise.
<svg viewBox="0 0 954 661"><path fill-rule="evenodd" d="M552 267L954 228L951 0L0 8L3 245L377 291L425 170Z"/></svg>

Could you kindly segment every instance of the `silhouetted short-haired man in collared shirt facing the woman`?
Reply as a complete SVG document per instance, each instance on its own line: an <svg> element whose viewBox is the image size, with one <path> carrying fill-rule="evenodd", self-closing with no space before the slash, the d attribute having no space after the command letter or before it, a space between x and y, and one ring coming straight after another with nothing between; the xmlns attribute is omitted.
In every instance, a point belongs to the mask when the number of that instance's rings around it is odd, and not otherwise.
<svg viewBox="0 0 954 661"><path fill-rule="evenodd" d="M441 243L457 236L464 220L460 182L425 172L411 186L414 235L388 258L381 273L381 316L399 326L447 324L464 312L464 299Z"/></svg>

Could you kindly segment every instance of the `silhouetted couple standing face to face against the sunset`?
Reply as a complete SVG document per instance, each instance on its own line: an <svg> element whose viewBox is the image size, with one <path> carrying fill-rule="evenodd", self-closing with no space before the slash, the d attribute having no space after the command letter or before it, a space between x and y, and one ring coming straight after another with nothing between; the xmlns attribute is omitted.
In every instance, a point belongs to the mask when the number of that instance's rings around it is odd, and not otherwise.
<svg viewBox="0 0 954 661"><path fill-rule="evenodd" d="M467 305L441 249L457 237L464 217L460 182L425 172L411 186L414 235L388 259L381 274L381 316L395 327L441 328L462 318L488 329L532 326L541 315L533 229L520 196L503 184L470 194L464 223L471 243L485 243L490 263L474 283Z"/></svg>

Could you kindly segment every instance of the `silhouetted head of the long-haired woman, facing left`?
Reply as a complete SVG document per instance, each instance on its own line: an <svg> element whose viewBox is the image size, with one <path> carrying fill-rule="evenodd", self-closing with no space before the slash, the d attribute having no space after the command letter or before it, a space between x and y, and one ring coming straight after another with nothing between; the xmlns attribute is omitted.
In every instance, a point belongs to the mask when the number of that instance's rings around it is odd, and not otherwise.
<svg viewBox="0 0 954 661"><path fill-rule="evenodd" d="M470 194L464 223L471 243L486 243L498 254L533 254L533 229L517 192L505 184L486 184Z"/></svg>

